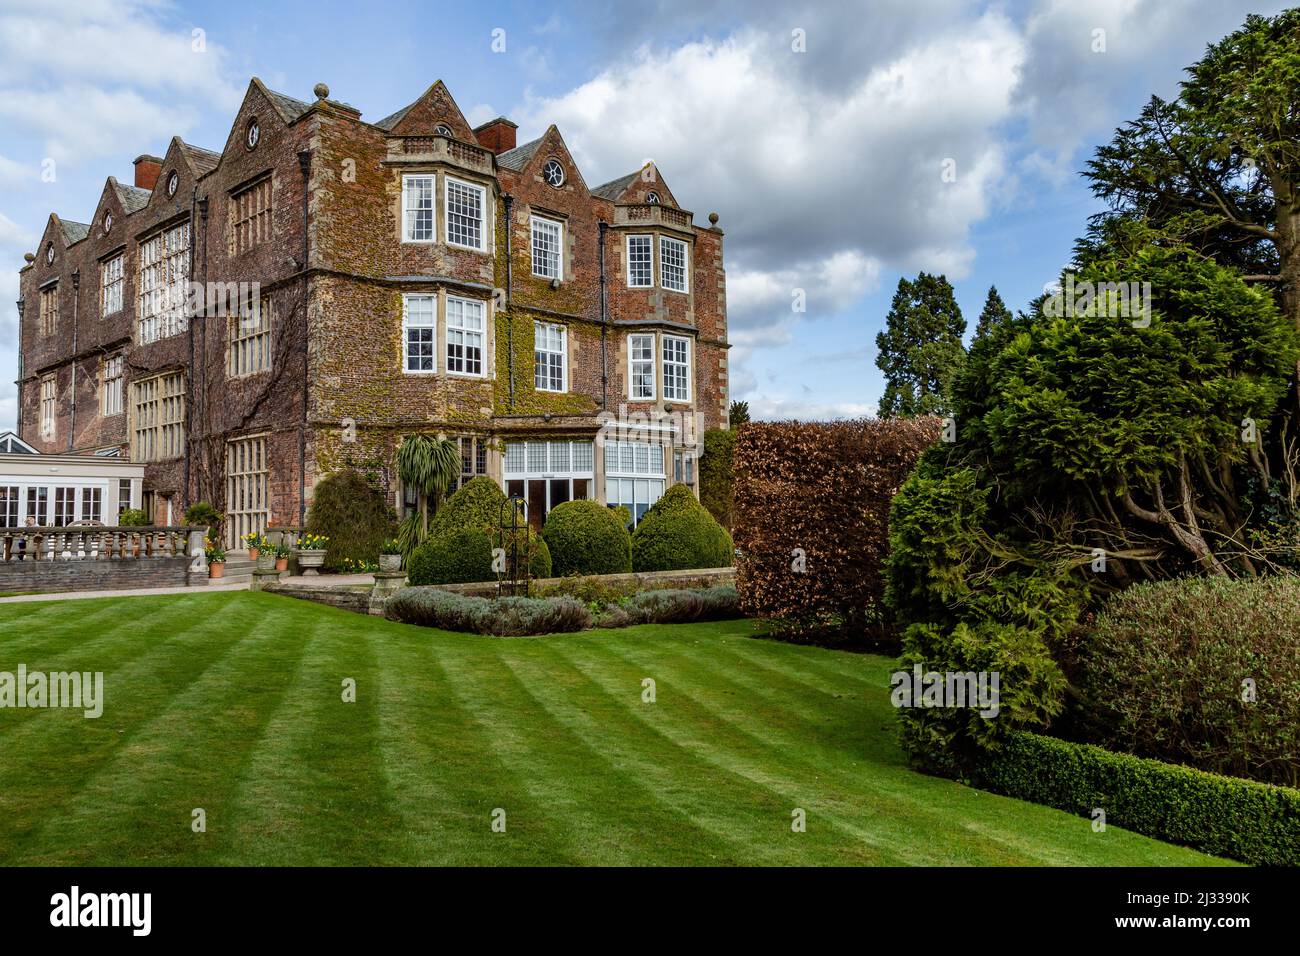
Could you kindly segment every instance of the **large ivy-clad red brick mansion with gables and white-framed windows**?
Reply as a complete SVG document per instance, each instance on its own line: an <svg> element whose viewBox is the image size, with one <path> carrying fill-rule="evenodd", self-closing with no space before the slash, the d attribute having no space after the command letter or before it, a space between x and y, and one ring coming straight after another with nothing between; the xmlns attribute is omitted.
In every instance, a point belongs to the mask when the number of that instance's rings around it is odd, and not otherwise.
<svg viewBox="0 0 1300 956"><path fill-rule="evenodd" d="M49 216L21 269L18 437L143 464L117 510L168 524L209 501L228 546L300 524L346 467L402 514L412 433L459 442L460 480L533 522L575 498L640 518L697 486L694 423L727 427L708 219L653 164L589 187L555 126L471 127L441 82L368 121L255 78L220 152L174 138L88 221ZM87 516L0 492L0 525Z"/></svg>

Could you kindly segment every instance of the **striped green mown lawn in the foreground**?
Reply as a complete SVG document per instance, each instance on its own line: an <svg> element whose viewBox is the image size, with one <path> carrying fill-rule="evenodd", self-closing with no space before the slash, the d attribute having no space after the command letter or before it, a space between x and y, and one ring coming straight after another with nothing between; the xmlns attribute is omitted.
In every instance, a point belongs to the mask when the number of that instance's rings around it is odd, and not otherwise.
<svg viewBox="0 0 1300 956"><path fill-rule="evenodd" d="M107 704L0 709L0 862L1218 862L913 773L887 658L750 633L500 640L247 592L3 605L0 671L101 670Z"/></svg>

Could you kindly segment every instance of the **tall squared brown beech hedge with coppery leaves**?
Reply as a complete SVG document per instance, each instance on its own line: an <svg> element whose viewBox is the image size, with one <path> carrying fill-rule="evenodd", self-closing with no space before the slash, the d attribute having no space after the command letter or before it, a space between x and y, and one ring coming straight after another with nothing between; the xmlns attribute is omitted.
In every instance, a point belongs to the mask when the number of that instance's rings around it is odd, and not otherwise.
<svg viewBox="0 0 1300 956"><path fill-rule="evenodd" d="M936 418L755 421L736 440L736 587L794 635L889 636L889 501L939 438Z"/></svg>

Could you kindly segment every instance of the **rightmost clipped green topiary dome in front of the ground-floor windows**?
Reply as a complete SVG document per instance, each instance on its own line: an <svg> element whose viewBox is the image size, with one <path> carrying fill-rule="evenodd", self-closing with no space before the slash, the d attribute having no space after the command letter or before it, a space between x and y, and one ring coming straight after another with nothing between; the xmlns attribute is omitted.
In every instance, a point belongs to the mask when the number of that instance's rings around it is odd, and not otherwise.
<svg viewBox="0 0 1300 956"><path fill-rule="evenodd" d="M729 567L733 555L731 535L681 484L664 492L632 532L633 571Z"/></svg>

